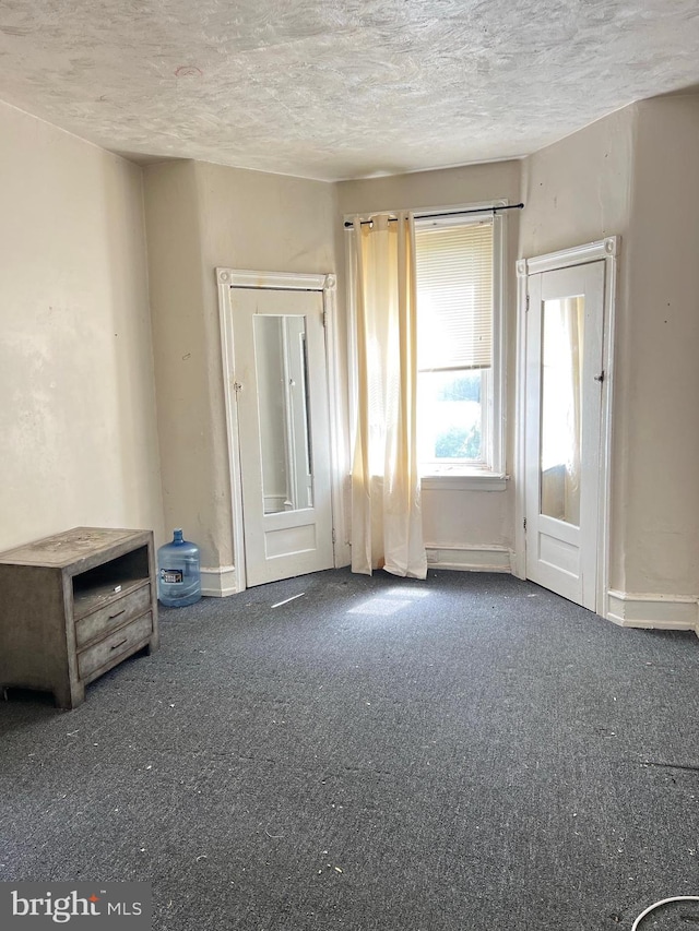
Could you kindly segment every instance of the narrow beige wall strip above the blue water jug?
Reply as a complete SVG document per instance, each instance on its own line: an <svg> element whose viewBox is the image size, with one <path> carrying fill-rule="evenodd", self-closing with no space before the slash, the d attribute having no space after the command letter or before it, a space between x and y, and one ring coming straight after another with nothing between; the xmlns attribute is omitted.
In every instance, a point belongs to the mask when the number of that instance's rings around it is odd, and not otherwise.
<svg viewBox="0 0 699 931"><path fill-rule="evenodd" d="M227 506L227 492L213 469L194 163L150 166L144 190L165 528L169 536L181 527L211 565L212 521L218 504Z"/></svg>

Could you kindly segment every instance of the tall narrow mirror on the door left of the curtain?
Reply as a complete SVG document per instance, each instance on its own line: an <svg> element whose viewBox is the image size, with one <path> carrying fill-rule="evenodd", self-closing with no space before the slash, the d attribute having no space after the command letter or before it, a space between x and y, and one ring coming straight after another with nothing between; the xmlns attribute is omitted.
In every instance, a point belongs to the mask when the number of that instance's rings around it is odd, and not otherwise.
<svg viewBox="0 0 699 931"><path fill-rule="evenodd" d="M264 513L312 508L306 319L257 314L253 331Z"/></svg>

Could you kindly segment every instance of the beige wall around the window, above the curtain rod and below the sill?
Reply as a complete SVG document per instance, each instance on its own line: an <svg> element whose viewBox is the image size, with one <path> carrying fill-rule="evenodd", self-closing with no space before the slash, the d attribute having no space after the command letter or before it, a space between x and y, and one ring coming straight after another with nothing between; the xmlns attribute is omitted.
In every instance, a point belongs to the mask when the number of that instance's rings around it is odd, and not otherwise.
<svg viewBox="0 0 699 931"><path fill-rule="evenodd" d="M458 204L482 203L507 198L510 203L520 200L520 164L498 162L393 175L360 181L342 181L337 184L339 210L342 215L367 214L377 211L426 210ZM519 211L511 212L506 220L506 370L512 371L516 358L517 286L513 274L518 243ZM341 243L341 248L344 243ZM342 266L344 271L344 265ZM342 289L346 287L341 275ZM506 418L508 457L506 468L512 468L514 378L507 378ZM425 541L436 549L511 549L513 546L513 491L508 482L506 491L423 490L423 522ZM463 563L470 564L467 553ZM495 560L494 560L495 562ZM476 564L474 561L473 564Z"/></svg>

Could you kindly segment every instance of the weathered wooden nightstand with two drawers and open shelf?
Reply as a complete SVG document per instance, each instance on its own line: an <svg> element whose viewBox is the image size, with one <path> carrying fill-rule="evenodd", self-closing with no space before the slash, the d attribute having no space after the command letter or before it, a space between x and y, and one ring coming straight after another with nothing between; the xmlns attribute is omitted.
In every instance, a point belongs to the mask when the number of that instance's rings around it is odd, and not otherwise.
<svg viewBox="0 0 699 931"><path fill-rule="evenodd" d="M74 708L88 682L157 646L151 530L75 527L0 553L0 688Z"/></svg>

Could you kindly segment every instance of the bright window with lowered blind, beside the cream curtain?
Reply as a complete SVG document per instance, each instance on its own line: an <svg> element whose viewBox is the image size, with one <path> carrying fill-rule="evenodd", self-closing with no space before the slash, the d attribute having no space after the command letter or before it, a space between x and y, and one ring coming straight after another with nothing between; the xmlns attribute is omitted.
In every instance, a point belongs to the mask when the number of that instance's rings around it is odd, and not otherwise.
<svg viewBox="0 0 699 931"><path fill-rule="evenodd" d="M424 476L502 472L501 219L415 220Z"/></svg>

